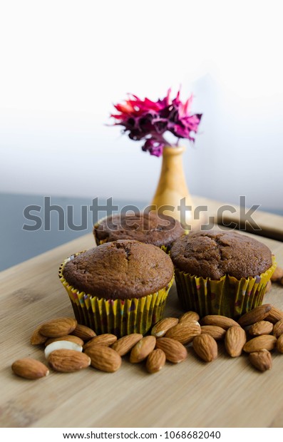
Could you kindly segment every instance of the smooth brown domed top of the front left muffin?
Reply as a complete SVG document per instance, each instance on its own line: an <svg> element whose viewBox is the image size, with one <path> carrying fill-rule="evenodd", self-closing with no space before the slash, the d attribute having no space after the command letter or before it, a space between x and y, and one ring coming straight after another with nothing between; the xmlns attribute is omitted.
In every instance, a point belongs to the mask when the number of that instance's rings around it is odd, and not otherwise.
<svg viewBox="0 0 283 442"><path fill-rule="evenodd" d="M131 299L166 287L174 266L159 247L118 240L71 257L62 273L80 292L105 299Z"/></svg>

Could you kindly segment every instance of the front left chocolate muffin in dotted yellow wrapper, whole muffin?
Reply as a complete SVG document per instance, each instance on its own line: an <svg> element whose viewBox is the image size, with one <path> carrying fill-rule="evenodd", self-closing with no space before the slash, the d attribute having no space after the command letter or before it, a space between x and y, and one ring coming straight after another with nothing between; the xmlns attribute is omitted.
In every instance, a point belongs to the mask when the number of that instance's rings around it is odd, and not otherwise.
<svg viewBox="0 0 283 442"><path fill-rule="evenodd" d="M145 334L163 316L174 267L159 247L118 240L72 255L59 277L79 324L123 336Z"/></svg>

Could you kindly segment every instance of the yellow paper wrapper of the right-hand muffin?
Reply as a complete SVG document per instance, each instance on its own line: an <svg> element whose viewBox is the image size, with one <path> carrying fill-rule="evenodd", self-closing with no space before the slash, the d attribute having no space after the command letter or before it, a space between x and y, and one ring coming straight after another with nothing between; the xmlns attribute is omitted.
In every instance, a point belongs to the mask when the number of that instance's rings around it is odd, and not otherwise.
<svg viewBox="0 0 283 442"><path fill-rule="evenodd" d="M200 317L222 314L237 319L262 304L267 282L277 265L273 256L272 263L272 267L259 276L242 279L225 275L213 280L175 269L180 304L183 309L197 312Z"/></svg>

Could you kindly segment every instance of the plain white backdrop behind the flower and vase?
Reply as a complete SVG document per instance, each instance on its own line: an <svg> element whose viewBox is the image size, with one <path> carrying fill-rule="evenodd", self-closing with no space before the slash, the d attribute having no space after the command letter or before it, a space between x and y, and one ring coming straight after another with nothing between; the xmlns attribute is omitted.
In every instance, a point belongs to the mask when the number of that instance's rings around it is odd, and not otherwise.
<svg viewBox="0 0 283 442"><path fill-rule="evenodd" d="M282 1L4 1L0 191L151 200L161 158L109 127L127 93L203 113L196 195L283 210Z"/></svg>

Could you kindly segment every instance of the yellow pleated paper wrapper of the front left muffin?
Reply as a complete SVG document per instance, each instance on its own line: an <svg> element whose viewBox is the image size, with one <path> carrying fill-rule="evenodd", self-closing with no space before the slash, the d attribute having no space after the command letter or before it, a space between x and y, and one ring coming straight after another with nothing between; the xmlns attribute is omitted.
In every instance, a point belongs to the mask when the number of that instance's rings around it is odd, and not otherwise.
<svg viewBox="0 0 283 442"><path fill-rule="evenodd" d="M158 322L165 309L166 299L174 276L166 287L145 297L133 299L104 299L80 292L63 277L66 262L82 252L65 259L59 269L60 280L68 292L73 312L79 324L91 327L96 334L112 333L125 336L130 333L145 334Z"/></svg>

